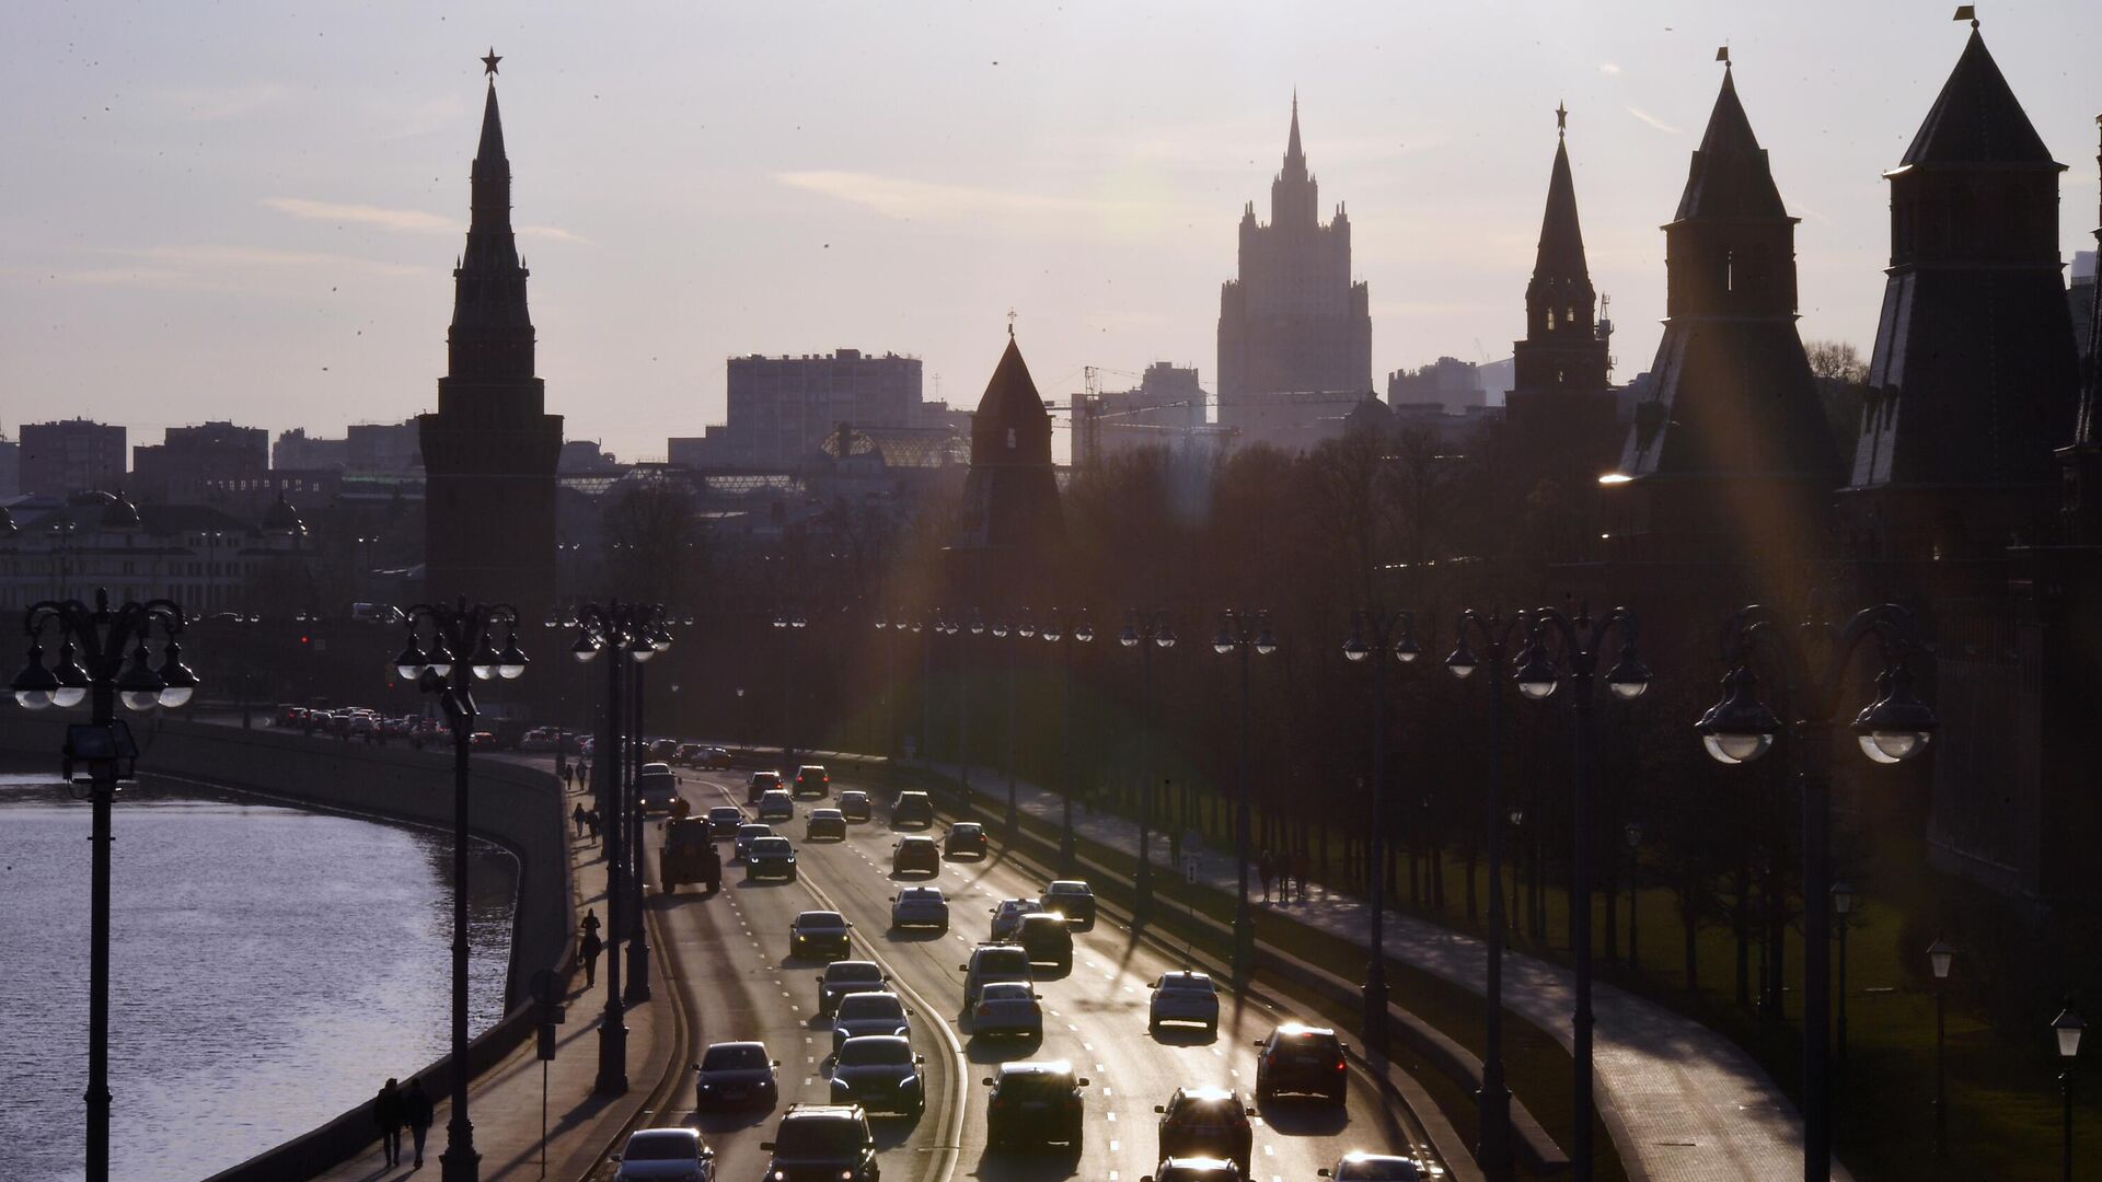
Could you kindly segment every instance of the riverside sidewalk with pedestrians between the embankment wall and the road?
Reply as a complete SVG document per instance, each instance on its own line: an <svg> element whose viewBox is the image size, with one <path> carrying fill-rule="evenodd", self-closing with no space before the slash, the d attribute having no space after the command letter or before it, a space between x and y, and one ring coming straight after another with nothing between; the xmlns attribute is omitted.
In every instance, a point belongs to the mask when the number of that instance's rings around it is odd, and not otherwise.
<svg viewBox="0 0 2102 1182"><path fill-rule="evenodd" d="M544 759L534 759L544 761ZM563 808L582 799L570 793ZM574 875L576 913L597 909L605 919L605 856L589 837L570 829L570 867ZM654 942L654 940L652 940ZM601 957L603 961L603 957ZM547 1169L540 1169L540 1060L536 1041L486 1071L469 1087L469 1119L475 1123L475 1150L481 1155L481 1178L555 1178L576 1182L605 1157L620 1129L650 1100L654 1083L664 1075L673 1054L673 1014L662 965L652 963L652 999L626 1010L628 1024L628 1092L605 1100L591 1094L599 1079L599 1018L605 1005L605 972L599 984L582 989L584 976L570 982L568 1022L557 1026L555 1062L547 1064ZM374 1079L378 1089L383 1081ZM408 1077L401 1079L408 1085ZM414 1171L408 1134L401 1136L401 1165L383 1165L378 1140L357 1157L322 1174L332 1182L378 1182L393 1178L437 1178L437 1157L446 1150L446 1123L452 1119L450 1096L439 1098L437 1119L425 1142L423 1169Z"/></svg>

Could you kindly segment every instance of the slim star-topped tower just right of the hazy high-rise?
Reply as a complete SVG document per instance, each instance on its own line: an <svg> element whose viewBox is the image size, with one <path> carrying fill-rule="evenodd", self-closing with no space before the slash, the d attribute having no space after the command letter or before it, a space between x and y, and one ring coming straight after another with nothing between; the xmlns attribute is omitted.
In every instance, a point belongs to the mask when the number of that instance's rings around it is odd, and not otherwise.
<svg viewBox="0 0 2102 1182"><path fill-rule="evenodd" d="M1568 111L1558 107L1555 164L1526 284L1526 339L1513 343L1505 421L1528 473L1589 498L1621 456L1621 437L1606 379L1608 328L1598 324L1598 292L1583 254L1566 128Z"/></svg>

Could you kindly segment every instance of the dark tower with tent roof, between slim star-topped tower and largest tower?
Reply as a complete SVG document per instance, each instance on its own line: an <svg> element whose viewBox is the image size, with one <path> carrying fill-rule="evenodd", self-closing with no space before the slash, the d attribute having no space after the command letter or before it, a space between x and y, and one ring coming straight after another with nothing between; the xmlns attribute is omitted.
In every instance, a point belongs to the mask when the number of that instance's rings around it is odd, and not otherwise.
<svg viewBox="0 0 2102 1182"><path fill-rule="evenodd" d="M1841 469L1795 328L1795 223L1726 65L1665 225L1654 387L1608 477L1625 557L1787 576L1822 549Z"/></svg>

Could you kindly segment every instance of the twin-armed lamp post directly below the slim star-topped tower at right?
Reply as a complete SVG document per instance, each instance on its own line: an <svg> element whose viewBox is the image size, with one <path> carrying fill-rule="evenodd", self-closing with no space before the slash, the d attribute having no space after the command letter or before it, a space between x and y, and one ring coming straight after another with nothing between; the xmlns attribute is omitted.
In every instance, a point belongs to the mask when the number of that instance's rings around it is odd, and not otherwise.
<svg viewBox="0 0 2102 1182"><path fill-rule="evenodd" d="M1518 692L1543 702L1562 686L1562 673L1547 652L1547 637L1562 641L1570 667L1570 717L1574 719L1574 776L1570 793L1570 953L1576 970L1576 1010L1570 1016L1574 1058L1574 1102L1570 1113L1570 1165L1576 1182L1591 1178L1591 747L1595 719L1591 715L1598 681L1598 656L1606 637L1621 633L1621 654L1606 673L1612 696L1631 702L1650 688L1650 671L1635 658L1635 614L1614 608L1591 618L1589 608L1576 608L1570 618L1558 608L1532 612L1532 639L1518 665Z"/></svg>

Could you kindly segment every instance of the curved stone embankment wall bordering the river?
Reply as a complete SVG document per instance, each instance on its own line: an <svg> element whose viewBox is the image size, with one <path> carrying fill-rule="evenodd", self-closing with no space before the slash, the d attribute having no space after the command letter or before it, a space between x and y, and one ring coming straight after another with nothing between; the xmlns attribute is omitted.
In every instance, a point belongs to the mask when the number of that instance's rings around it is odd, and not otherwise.
<svg viewBox="0 0 2102 1182"><path fill-rule="evenodd" d="M65 724L59 713L0 711L0 751L17 759L59 761ZM452 829L452 745L414 751L401 742L374 747L334 738L242 730L183 719L128 719L139 740L143 774L179 776L248 791L294 806ZM511 921L511 970L504 1018L467 1047L469 1071L500 1062L534 1031L526 995L532 974L565 974L576 932L570 894L568 818L561 784L544 770L477 755L467 822L475 837L517 858L517 913ZM122 801L118 803L122 808ZM414 1071L435 1096L452 1089L452 1056ZM404 1071L404 1079L412 1075ZM376 1138L370 1104L212 1176L208 1182L311 1178Z"/></svg>

